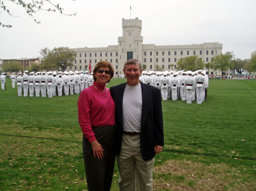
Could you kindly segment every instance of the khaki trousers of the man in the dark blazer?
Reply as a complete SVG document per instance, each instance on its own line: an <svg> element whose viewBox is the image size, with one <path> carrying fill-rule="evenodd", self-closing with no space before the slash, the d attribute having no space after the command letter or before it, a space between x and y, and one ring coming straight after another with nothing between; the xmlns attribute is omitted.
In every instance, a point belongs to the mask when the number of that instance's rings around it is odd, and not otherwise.
<svg viewBox="0 0 256 191"><path fill-rule="evenodd" d="M139 134L123 134L121 152L117 156L120 191L135 191L136 185L138 191L152 190L155 158L143 160L139 137Z"/></svg>

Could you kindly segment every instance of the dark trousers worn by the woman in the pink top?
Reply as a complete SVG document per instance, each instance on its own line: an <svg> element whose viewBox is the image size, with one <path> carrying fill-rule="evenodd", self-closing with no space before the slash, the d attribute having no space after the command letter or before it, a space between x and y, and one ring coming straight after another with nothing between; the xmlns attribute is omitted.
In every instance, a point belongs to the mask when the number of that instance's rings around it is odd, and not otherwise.
<svg viewBox="0 0 256 191"><path fill-rule="evenodd" d="M82 152L84 154L84 165L86 180L89 191L109 191L112 184L115 164L115 127L94 127L93 132L97 141L104 151L103 158L94 158L92 145L88 139L82 137Z"/></svg>

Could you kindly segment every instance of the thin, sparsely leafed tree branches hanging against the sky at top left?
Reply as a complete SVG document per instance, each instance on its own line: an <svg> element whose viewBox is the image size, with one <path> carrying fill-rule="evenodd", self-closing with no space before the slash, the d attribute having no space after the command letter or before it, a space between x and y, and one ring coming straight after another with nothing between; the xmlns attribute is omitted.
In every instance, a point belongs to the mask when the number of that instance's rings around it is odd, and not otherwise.
<svg viewBox="0 0 256 191"><path fill-rule="evenodd" d="M38 1L35 1L35 0L30 0L30 1L10 0L9 2L15 3L21 9L23 8L24 11L26 11L27 14L32 19L34 19L34 21L38 24L40 23L40 21L38 21L34 18L34 14L36 14L36 12L39 12L39 11L48 11L48 12L59 11L60 14L63 14L63 15L69 15L69 16L76 15L76 13L75 14L65 14L63 12L64 9L62 7L60 7L59 3L52 3L51 0L38 0ZM0 9L2 9L3 11L6 11L7 14L9 14L10 16L15 16L8 9L8 7L5 5L5 3L3 3L2 0L0 0ZM12 27L10 24L3 24L1 21L0 21L0 26L7 27L7 28Z"/></svg>

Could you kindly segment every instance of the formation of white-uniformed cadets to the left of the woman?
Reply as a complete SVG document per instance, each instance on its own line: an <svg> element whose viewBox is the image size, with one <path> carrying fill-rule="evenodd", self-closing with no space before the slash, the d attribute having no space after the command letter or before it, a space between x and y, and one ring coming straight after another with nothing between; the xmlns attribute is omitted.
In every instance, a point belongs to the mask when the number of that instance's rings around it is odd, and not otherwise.
<svg viewBox="0 0 256 191"><path fill-rule="evenodd" d="M10 76L12 86L15 88L15 82L18 87L18 96L35 96L52 97L62 95L80 94L84 88L93 84L93 75L89 75L88 71L59 71L58 73L52 71L42 71L28 74L28 71L15 73Z"/></svg>

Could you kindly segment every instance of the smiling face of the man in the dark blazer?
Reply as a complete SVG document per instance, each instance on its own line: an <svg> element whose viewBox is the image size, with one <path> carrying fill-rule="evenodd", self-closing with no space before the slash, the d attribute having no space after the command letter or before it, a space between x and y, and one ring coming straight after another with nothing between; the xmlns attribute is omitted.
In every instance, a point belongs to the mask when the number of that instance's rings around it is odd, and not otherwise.
<svg viewBox="0 0 256 191"><path fill-rule="evenodd" d="M129 86L136 86L139 84L139 77L142 74L142 70L139 70L138 63L126 65L123 73L126 75L127 84Z"/></svg>

